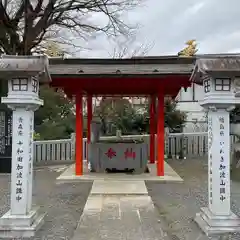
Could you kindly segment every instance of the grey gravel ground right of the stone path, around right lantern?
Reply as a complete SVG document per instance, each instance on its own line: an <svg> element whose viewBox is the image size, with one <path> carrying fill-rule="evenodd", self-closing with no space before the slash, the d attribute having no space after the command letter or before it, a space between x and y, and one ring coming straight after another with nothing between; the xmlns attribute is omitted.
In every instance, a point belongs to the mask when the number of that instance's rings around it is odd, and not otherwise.
<svg viewBox="0 0 240 240"><path fill-rule="evenodd" d="M207 240L193 221L200 207L207 206L207 161L169 160L184 183L147 182L149 194L159 210L164 230L172 240ZM240 216L240 182L231 184L232 210ZM221 239L239 240L240 234Z"/></svg>

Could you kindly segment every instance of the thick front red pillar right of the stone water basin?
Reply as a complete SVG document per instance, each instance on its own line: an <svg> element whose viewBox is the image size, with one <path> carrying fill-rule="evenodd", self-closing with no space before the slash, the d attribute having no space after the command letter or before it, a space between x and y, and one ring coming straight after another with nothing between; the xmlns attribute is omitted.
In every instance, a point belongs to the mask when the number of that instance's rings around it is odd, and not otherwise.
<svg viewBox="0 0 240 240"><path fill-rule="evenodd" d="M157 110L157 176L164 176L164 94L158 94Z"/></svg>

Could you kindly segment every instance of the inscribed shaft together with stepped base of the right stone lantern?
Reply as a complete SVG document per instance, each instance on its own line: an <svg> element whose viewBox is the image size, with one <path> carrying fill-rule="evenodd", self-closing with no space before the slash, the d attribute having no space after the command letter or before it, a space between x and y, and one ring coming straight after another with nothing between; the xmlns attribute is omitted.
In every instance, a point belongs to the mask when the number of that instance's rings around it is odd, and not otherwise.
<svg viewBox="0 0 240 240"><path fill-rule="evenodd" d="M240 230L239 218L231 212L228 108L208 108L208 207L195 221L207 235Z"/></svg>

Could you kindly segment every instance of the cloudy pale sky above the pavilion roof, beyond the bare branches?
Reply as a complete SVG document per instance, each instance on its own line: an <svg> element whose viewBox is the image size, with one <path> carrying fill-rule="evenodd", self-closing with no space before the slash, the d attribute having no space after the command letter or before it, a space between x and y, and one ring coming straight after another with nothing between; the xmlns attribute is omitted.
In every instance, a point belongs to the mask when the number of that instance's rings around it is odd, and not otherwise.
<svg viewBox="0 0 240 240"><path fill-rule="evenodd" d="M131 48L150 45L149 56L175 55L189 39L199 54L240 53L239 0L145 0L127 19L140 24ZM86 46L76 57L110 57L113 48L103 36Z"/></svg>

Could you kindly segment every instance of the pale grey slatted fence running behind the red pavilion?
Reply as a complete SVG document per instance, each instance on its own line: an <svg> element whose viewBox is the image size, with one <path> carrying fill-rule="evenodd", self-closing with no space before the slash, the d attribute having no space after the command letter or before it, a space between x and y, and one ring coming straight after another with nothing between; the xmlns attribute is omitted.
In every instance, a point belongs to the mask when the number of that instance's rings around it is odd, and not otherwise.
<svg viewBox="0 0 240 240"><path fill-rule="evenodd" d="M102 139L115 139L102 137ZM149 135L127 135L123 139L143 139L149 146ZM238 140L231 136L231 143ZM156 148L155 148L156 149ZM165 137L165 156L167 158L206 158L208 151L207 133L175 133ZM157 151L156 151L157 154ZM149 156L149 147L148 147ZM87 141L83 139L83 157L87 159ZM71 163L75 159L75 136L71 139L35 141L34 162L37 165Z"/></svg>

